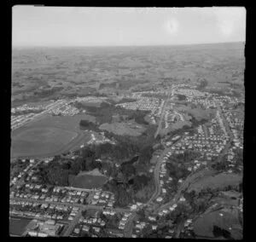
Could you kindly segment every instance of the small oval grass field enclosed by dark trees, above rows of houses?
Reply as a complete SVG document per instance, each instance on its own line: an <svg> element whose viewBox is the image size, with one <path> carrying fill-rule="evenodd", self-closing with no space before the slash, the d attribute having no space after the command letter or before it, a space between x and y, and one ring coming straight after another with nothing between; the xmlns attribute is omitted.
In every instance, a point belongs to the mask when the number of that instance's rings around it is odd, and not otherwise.
<svg viewBox="0 0 256 242"><path fill-rule="evenodd" d="M80 173L78 176L70 176L69 183L72 187L79 187L79 188L100 188L102 185L108 180L108 178L99 172L83 172Z"/></svg>

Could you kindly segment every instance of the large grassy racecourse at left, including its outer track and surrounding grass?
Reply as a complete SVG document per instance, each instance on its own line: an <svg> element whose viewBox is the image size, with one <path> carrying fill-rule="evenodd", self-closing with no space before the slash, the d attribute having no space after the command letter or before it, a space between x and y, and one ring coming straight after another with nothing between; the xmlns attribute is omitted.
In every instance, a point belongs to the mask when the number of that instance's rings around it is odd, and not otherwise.
<svg viewBox="0 0 256 242"><path fill-rule="evenodd" d="M45 116L44 118L14 130L11 134L11 157L32 157L66 152L90 141L90 133L79 130L81 119L95 122L90 115ZM65 151L64 151L65 149Z"/></svg>

